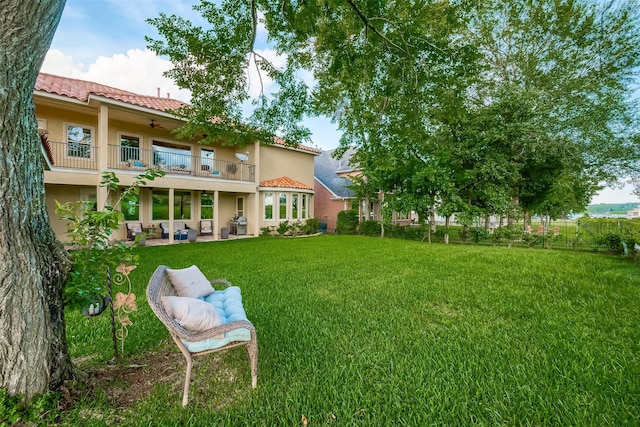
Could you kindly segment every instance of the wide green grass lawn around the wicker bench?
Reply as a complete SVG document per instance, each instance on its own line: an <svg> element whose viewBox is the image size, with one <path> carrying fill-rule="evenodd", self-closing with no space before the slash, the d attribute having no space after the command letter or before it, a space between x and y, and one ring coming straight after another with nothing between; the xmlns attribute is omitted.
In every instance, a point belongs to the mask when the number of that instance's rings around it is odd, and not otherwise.
<svg viewBox="0 0 640 427"><path fill-rule="evenodd" d="M241 287L241 349L184 362L130 408L83 399L66 425L637 425L640 268L591 253L320 236L139 248L128 357L177 352L144 299L158 264ZM107 316L67 316L70 351L111 358ZM181 356L180 356L181 357ZM153 366L145 369L153 370Z"/></svg>

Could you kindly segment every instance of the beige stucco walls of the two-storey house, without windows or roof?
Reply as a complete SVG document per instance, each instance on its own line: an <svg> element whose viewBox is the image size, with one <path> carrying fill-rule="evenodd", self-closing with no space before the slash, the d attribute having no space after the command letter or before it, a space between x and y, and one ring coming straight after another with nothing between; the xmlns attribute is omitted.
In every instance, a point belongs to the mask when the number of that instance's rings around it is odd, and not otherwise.
<svg viewBox="0 0 640 427"><path fill-rule="evenodd" d="M61 241L67 241L66 221L58 219L55 213L56 203L77 200L95 200L101 208L106 200L106 191L100 187L104 171L116 173L122 187L129 186L147 167L153 167L156 160L152 148L155 141L182 146L190 150L184 154L190 161L185 170L170 167L166 176L147 182L139 195L139 221L144 227L155 226L159 230L161 222L167 219L154 219L152 202L154 192L171 194L188 193L190 195L190 218L184 222L191 228L199 229L200 198L203 192L215 195L214 238L220 237L222 227L228 227L229 221L238 214L237 200L243 199L247 217L247 234L259 235L260 228L266 225L261 215L259 182L264 177L289 176L300 182L313 185L314 152L294 150L283 146L227 147L221 144L201 145L199 140L180 140L171 132L180 122L168 114L145 109L135 105L123 105L122 102L110 103L109 100L78 101L64 96L51 95L36 91L34 94L36 117L39 127L48 131L52 146L54 164L45 170L45 191L47 210L51 226ZM166 129L150 128L150 117ZM73 124L91 130L90 158L70 158L68 156L66 125ZM139 138L141 163L137 166L131 159L120 158L122 153L120 138L122 135ZM214 164L205 169L203 149L213 150ZM240 162L236 153L248 154L245 162ZM144 162L142 162L144 157ZM129 161L127 161L129 160ZM233 170L227 166L233 166ZM164 167L163 164L156 164ZM208 164L206 166L209 166ZM218 171L218 169L220 169ZM219 174L214 174L214 170ZM286 189L298 192L294 189ZM312 194L309 194L309 214L312 213ZM114 194L113 197L118 197ZM113 203L114 199L110 203ZM179 220L175 220L176 222ZM182 222L182 221L180 221ZM115 236L126 238L125 227ZM171 236L170 240L173 239Z"/></svg>

